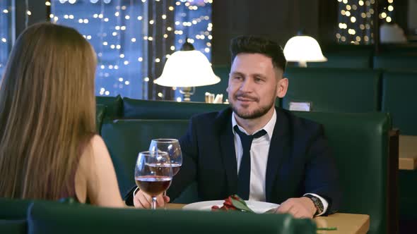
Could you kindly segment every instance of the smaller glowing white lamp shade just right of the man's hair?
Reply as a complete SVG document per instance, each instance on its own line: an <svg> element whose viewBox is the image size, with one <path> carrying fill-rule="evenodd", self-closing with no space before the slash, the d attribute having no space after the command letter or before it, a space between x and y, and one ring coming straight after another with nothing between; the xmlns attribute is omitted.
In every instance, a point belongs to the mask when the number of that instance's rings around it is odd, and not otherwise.
<svg viewBox="0 0 417 234"><path fill-rule="evenodd" d="M284 47L284 56L290 62L324 62L322 49L316 39L309 36L291 37Z"/></svg>

